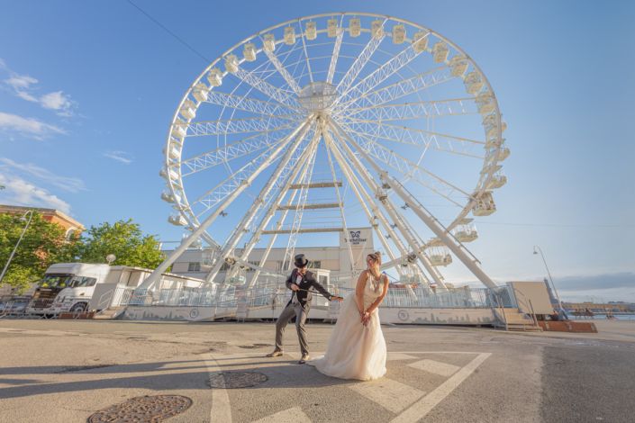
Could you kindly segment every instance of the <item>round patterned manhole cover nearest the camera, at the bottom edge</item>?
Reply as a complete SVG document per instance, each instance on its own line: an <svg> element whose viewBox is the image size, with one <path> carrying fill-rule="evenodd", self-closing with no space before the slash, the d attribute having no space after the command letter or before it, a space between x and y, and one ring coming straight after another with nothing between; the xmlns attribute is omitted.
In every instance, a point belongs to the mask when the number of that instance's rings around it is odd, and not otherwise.
<svg viewBox="0 0 635 423"><path fill-rule="evenodd" d="M169 419L190 408L192 400L180 395L154 395L131 398L105 410L97 411L88 423L102 422L158 422Z"/></svg>

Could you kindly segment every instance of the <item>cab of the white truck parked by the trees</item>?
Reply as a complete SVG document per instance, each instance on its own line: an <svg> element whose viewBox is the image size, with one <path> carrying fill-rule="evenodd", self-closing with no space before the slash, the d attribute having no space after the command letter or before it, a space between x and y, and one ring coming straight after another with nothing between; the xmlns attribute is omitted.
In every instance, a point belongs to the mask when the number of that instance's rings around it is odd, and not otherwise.
<svg viewBox="0 0 635 423"><path fill-rule="evenodd" d="M63 311L86 311L95 286L105 281L108 265L58 263L50 266L33 293L27 313L55 316Z"/></svg>

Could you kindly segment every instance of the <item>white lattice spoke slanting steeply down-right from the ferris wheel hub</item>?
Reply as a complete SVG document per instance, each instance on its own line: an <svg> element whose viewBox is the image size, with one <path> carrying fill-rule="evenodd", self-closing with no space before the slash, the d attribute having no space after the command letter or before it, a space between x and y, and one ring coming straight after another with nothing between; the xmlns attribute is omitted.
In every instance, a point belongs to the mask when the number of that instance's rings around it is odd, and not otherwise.
<svg viewBox="0 0 635 423"><path fill-rule="evenodd" d="M405 157L395 153L395 151L383 147L376 143L372 139L367 139L363 136L358 136L355 132L348 133L349 137L358 140L358 147L364 149L371 157L375 157L378 161L394 168L396 171L407 177L413 178L418 184L428 188L434 193L439 194L449 202L454 203L458 207L463 207L463 204L454 200L451 196L455 193L460 193L462 196L471 199L471 195L458 186L450 184L445 179L434 174L428 169L413 163ZM432 180L430 181L430 178Z"/></svg>

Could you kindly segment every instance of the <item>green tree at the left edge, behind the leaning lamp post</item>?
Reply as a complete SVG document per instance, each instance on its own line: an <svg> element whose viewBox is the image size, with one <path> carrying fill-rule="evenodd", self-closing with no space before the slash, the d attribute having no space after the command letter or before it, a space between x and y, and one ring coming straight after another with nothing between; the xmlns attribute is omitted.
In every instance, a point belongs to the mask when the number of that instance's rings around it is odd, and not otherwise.
<svg viewBox="0 0 635 423"><path fill-rule="evenodd" d="M20 215L0 214L0 269L5 266L24 229L26 222L21 218ZM51 264L75 261L76 254L77 237L67 239L64 228L33 212L29 228L15 250L2 284L10 284L22 291L40 279Z"/></svg>

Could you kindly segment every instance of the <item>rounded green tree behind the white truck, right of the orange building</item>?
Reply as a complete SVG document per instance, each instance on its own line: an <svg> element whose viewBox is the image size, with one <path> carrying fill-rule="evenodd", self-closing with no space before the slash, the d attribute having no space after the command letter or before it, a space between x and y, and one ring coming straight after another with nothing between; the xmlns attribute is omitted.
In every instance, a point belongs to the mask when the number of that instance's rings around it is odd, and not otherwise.
<svg viewBox="0 0 635 423"><path fill-rule="evenodd" d="M113 265L139 266L153 269L163 261L159 239L155 235L143 235L138 223L118 220L92 226L82 235L79 261L106 263L105 257L113 254Z"/></svg>

